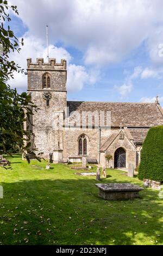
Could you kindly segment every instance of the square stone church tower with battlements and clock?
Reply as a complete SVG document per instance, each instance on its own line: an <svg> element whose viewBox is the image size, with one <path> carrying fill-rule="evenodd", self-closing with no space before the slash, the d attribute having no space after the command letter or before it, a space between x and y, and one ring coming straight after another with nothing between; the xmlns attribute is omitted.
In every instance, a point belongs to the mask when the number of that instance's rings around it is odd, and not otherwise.
<svg viewBox="0 0 163 256"><path fill-rule="evenodd" d="M56 63L49 59L44 63L37 58L36 63L27 59L28 93L32 102L39 108L32 117L34 133L33 147L36 154L45 158L53 155L53 160L62 160L62 131L54 129L59 119L64 118L66 101L66 60ZM54 124L55 121L55 124Z"/></svg>

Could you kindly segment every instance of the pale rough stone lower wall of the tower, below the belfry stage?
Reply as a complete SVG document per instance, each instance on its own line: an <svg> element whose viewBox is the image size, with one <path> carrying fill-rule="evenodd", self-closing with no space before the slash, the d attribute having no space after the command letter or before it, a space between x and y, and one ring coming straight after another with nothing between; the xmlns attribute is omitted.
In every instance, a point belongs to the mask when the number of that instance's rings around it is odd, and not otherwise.
<svg viewBox="0 0 163 256"><path fill-rule="evenodd" d="M49 107L42 97L42 92L31 92L32 101L39 107L33 115L34 144L38 149L37 153L43 153L48 157L53 150L62 147L62 131L55 129L57 117L64 117L63 109L66 105L66 92L51 92L52 99Z"/></svg>

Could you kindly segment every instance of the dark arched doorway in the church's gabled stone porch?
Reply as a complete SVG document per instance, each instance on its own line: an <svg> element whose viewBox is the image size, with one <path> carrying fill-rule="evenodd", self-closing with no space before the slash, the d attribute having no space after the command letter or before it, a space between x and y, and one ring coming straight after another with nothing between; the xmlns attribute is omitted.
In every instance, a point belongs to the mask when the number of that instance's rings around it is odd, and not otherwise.
<svg viewBox="0 0 163 256"><path fill-rule="evenodd" d="M126 151L123 148L115 151L114 168L126 168Z"/></svg>

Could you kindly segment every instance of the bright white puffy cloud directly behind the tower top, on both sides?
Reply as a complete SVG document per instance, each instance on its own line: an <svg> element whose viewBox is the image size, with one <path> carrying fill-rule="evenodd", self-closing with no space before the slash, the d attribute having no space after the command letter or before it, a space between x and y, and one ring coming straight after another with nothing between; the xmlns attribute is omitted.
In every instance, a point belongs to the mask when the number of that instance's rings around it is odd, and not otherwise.
<svg viewBox="0 0 163 256"><path fill-rule="evenodd" d="M27 69L27 58L32 57L32 61L36 62L36 58L44 58L47 61L47 48L44 47L41 40L36 39L34 36L24 36L24 46L20 54L14 52L10 58L14 59L25 71ZM92 70L86 70L84 66L71 64L72 57L65 48L55 47L49 45L49 58L55 57L57 62L60 63L61 58L67 60L67 90L69 92L76 92L81 90L85 83L93 84L98 79L98 71L93 76ZM14 80L10 80L12 88L20 88L21 90L27 89L27 77L24 74L16 73Z"/></svg>

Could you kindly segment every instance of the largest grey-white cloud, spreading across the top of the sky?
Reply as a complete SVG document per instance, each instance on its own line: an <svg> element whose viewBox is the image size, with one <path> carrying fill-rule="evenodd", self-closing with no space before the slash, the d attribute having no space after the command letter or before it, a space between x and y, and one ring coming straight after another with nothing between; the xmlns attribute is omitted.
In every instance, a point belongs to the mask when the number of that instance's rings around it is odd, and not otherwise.
<svg viewBox="0 0 163 256"><path fill-rule="evenodd" d="M163 42L162 0L12 1L30 35L46 41L48 23L49 41L83 51L86 64L116 63L143 41L153 62L163 63L158 58L158 44Z"/></svg>

